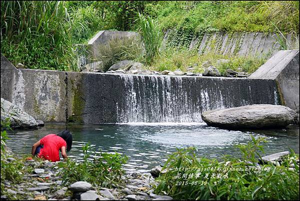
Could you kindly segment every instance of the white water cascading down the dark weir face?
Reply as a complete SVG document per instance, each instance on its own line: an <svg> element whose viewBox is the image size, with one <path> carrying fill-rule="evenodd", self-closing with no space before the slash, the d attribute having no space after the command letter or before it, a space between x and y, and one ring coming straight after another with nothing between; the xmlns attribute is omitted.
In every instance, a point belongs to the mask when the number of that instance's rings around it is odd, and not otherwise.
<svg viewBox="0 0 300 201"><path fill-rule="evenodd" d="M261 80L119 75L116 122L202 122L201 112L250 104L278 104L276 88ZM266 84L267 83L267 84Z"/></svg>

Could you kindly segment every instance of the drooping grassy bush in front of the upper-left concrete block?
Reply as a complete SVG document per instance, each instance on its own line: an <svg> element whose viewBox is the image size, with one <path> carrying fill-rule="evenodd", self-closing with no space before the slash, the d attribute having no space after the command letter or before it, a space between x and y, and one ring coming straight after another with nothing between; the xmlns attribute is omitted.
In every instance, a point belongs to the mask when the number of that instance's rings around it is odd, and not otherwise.
<svg viewBox="0 0 300 201"><path fill-rule="evenodd" d="M134 38L112 39L107 45L99 48L99 60L102 61L103 70L121 60L138 60L141 58L141 43Z"/></svg>

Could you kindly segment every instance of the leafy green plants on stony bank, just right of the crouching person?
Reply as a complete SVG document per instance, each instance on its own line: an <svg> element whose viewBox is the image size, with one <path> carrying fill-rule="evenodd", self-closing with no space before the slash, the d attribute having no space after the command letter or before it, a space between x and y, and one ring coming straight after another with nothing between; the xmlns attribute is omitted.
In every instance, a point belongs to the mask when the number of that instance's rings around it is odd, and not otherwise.
<svg viewBox="0 0 300 201"><path fill-rule="evenodd" d="M121 169L121 165L126 163L126 156L101 152L97 156L89 144L82 146L82 151L82 163L67 159L66 162L58 164L58 167L62 168L59 175L62 177L63 184L86 181L97 187L111 187L112 184L117 185L122 182L120 178L124 170ZM89 159L90 153L94 157L93 160Z"/></svg>

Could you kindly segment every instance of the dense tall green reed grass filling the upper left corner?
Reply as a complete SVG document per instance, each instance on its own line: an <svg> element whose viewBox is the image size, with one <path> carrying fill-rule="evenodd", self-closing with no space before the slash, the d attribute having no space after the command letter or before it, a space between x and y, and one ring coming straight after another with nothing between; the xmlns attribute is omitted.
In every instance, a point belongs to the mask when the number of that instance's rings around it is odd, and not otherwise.
<svg viewBox="0 0 300 201"><path fill-rule="evenodd" d="M76 71L67 1L1 1L1 53L28 68Z"/></svg>

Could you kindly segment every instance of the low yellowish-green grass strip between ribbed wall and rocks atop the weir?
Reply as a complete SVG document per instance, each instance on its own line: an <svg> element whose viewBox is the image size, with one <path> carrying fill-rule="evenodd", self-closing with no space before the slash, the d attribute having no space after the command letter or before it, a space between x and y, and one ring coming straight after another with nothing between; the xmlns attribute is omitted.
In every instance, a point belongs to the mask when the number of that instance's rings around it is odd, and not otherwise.
<svg viewBox="0 0 300 201"><path fill-rule="evenodd" d="M221 74L224 74L225 70L230 68L237 72L252 73L261 66L269 54L257 56L228 56L222 54L207 53L199 55L196 49L188 51L187 48L174 48L167 47L156 55L153 62L148 68L156 71L180 69L183 72L187 71L188 67L194 67L192 71L194 73L202 73L202 63L204 61L210 61L211 65L215 66ZM219 59L229 59L228 63L219 63Z"/></svg>

